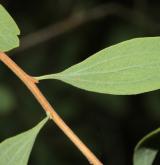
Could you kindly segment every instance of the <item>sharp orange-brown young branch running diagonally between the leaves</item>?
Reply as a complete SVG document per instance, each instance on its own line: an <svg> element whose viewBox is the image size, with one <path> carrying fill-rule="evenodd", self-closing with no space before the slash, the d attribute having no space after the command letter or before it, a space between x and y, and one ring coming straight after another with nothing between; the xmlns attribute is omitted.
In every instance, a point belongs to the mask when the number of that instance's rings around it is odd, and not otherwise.
<svg viewBox="0 0 160 165"><path fill-rule="evenodd" d="M56 123L56 125L68 136L68 138L77 146L77 148L88 159L90 164L102 165L100 160L91 152L90 149L75 135L75 133L66 125L61 117L56 113L53 107L49 104L47 99L43 96L36 83L38 81L27 73L25 73L14 61L12 61L5 53L0 52L0 60L12 70L17 77L28 87L31 93L35 96L37 101L43 107L47 115Z"/></svg>

